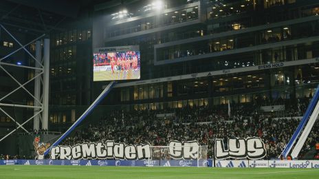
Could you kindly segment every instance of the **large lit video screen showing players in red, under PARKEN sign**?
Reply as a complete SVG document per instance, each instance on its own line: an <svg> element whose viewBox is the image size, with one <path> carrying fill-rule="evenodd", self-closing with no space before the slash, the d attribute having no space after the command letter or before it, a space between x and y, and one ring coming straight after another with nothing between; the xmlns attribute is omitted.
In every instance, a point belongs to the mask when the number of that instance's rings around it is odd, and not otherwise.
<svg viewBox="0 0 319 179"><path fill-rule="evenodd" d="M140 79L139 46L96 48L93 63L93 81Z"/></svg>

